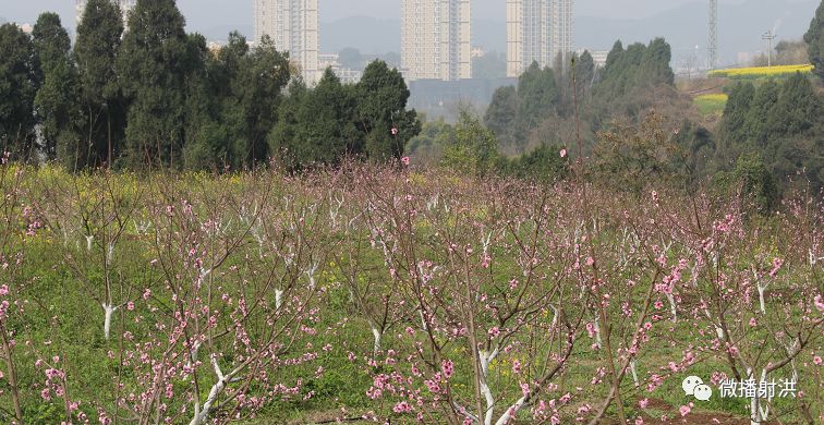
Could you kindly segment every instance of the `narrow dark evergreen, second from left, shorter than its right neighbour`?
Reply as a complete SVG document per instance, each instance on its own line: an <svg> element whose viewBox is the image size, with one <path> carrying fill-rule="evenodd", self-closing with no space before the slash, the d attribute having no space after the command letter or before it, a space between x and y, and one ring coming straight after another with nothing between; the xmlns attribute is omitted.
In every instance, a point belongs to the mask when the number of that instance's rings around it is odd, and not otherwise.
<svg viewBox="0 0 824 425"><path fill-rule="evenodd" d="M58 145L76 143L80 136L77 72L69 33L57 13L41 14L32 36L43 82L35 97L35 111L41 125L40 150L48 159L54 159Z"/></svg>

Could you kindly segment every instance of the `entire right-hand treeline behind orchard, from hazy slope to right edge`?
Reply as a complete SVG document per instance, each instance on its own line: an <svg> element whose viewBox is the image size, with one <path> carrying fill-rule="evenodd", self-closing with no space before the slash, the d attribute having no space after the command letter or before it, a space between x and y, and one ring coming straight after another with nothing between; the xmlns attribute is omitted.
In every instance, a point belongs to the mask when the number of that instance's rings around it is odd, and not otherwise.
<svg viewBox="0 0 824 425"><path fill-rule="evenodd" d="M821 193L824 101L813 81L797 74L725 87L720 122L704 126L675 86L670 57L655 39L616 42L601 69L587 52L554 68L533 63L517 86L495 93L483 118L465 111L455 125L427 122L409 149L461 172L557 181L569 175L580 141L587 179L628 193L650 183L720 191L763 212L786 191Z"/></svg>

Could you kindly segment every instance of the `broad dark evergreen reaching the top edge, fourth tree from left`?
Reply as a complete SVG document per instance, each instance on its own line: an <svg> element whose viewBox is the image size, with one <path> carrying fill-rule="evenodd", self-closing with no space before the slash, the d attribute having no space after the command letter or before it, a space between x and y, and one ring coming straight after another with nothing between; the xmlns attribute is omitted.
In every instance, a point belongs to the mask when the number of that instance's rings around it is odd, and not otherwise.
<svg viewBox="0 0 824 425"><path fill-rule="evenodd" d="M189 38L174 0L137 0L118 56L129 102L125 161L130 167L181 166L185 139Z"/></svg>

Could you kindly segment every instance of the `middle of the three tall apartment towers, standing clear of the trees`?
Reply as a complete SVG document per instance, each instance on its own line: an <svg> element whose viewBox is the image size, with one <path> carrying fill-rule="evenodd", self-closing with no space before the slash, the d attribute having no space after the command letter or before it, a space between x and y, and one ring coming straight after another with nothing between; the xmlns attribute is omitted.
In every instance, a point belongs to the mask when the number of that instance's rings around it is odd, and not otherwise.
<svg viewBox="0 0 824 425"><path fill-rule="evenodd" d="M471 0L401 0L401 72L408 81L472 77Z"/></svg>

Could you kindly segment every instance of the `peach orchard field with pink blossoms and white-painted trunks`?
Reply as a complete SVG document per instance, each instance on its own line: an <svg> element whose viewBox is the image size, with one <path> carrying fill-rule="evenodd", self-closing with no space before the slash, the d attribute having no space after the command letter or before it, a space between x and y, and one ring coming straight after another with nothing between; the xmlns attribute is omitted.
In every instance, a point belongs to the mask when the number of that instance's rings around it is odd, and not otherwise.
<svg viewBox="0 0 824 425"><path fill-rule="evenodd" d="M0 422L821 423L821 198L602 186L7 163Z"/></svg>

